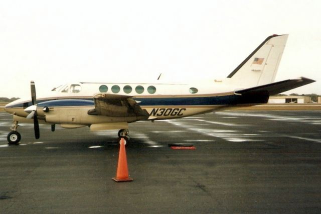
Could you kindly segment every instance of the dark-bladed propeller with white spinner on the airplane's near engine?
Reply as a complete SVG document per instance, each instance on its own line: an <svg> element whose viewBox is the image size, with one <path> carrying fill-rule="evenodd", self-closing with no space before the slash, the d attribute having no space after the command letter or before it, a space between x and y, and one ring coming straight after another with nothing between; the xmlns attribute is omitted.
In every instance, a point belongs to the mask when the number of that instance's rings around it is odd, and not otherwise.
<svg viewBox="0 0 321 214"><path fill-rule="evenodd" d="M25 111L29 113L26 118L27 119L34 118L35 137L36 139L39 139L40 131L39 131L39 122L37 117L37 96L36 96L36 86L34 81L30 82L30 89L31 89L32 105L25 109Z"/></svg>

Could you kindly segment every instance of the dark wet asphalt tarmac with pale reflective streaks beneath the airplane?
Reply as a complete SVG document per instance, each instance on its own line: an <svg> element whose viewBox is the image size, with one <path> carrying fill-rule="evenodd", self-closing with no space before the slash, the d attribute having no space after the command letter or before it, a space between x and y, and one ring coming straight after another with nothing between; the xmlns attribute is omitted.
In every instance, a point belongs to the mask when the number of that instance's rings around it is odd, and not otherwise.
<svg viewBox="0 0 321 214"><path fill-rule="evenodd" d="M116 183L116 130L51 132L0 112L0 213L321 213L321 111L222 111L130 124L132 182ZM191 143L195 150L168 144Z"/></svg>

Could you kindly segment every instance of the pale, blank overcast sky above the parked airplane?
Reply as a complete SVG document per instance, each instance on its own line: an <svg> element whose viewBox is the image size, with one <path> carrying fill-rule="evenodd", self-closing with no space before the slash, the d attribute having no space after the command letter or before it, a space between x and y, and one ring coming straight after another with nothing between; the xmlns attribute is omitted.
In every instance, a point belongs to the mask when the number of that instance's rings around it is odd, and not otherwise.
<svg viewBox="0 0 321 214"><path fill-rule="evenodd" d="M289 34L276 81L317 80L320 0L0 1L0 96L65 82L226 77L268 35Z"/></svg>

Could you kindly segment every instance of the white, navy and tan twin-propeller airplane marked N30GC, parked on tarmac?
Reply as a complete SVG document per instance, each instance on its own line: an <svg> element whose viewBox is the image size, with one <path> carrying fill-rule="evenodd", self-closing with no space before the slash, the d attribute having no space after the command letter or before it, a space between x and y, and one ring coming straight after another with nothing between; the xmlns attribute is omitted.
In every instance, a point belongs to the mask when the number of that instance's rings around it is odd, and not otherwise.
<svg viewBox="0 0 321 214"><path fill-rule="evenodd" d="M18 99L5 106L13 114L9 144L19 144L19 122L33 122L40 137L39 122L63 128L89 126L91 131L119 129L129 138L128 123L175 119L199 113L267 103L275 95L315 80L299 77L274 82L288 34L268 36L226 78L188 83L77 82L53 88L36 97L31 81L31 99Z"/></svg>

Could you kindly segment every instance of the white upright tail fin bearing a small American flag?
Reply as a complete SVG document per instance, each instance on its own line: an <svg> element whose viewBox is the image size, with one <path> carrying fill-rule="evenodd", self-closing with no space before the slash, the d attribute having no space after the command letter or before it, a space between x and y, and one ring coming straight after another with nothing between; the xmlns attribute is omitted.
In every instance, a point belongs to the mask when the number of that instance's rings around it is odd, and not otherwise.
<svg viewBox="0 0 321 214"><path fill-rule="evenodd" d="M274 81L288 34L268 36L227 77L247 86L268 84Z"/></svg>

